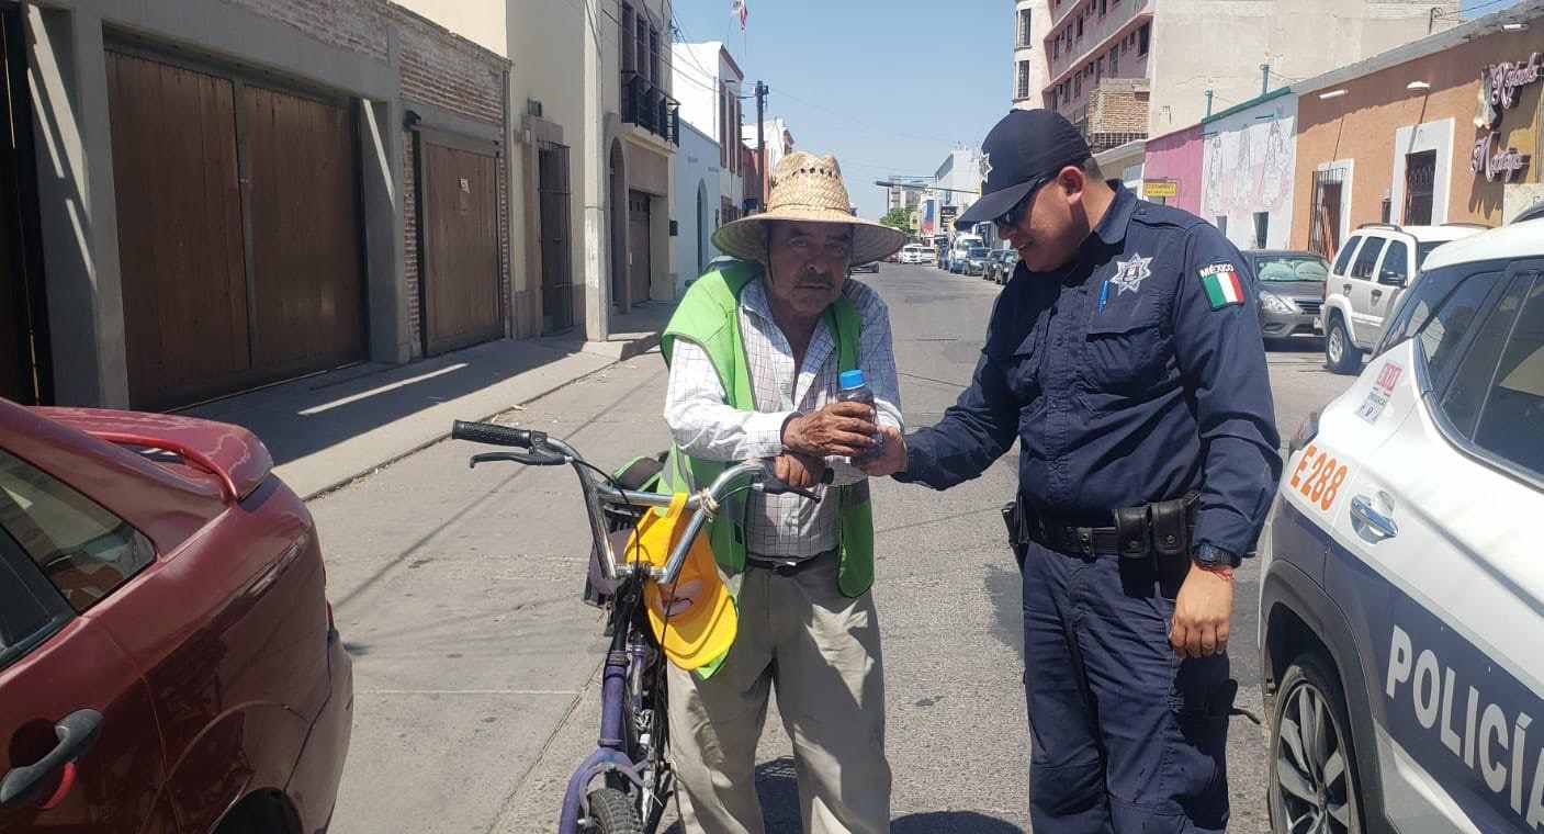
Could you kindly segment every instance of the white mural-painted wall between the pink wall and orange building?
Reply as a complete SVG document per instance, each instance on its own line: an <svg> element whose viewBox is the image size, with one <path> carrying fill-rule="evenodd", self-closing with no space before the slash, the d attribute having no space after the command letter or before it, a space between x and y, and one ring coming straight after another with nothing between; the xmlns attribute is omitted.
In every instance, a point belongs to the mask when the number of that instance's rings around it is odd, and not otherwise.
<svg viewBox="0 0 1544 834"><path fill-rule="evenodd" d="M1207 124L1201 148L1201 216L1227 218L1227 239L1254 249L1255 213L1268 215L1266 249L1292 238L1292 176L1297 170L1297 96L1261 102Z"/></svg>

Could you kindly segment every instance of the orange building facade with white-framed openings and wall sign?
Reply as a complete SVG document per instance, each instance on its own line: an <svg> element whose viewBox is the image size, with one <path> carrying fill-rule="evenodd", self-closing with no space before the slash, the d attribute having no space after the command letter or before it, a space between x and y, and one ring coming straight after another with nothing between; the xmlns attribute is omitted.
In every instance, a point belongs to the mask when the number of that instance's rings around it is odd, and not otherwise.
<svg viewBox="0 0 1544 834"><path fill-rule="evenodd" d="M1532 29L1530 29L1532 26ZM1544 0L1294 85L1292 246L1365 222L1499 225L1544 198Z"/></svg>

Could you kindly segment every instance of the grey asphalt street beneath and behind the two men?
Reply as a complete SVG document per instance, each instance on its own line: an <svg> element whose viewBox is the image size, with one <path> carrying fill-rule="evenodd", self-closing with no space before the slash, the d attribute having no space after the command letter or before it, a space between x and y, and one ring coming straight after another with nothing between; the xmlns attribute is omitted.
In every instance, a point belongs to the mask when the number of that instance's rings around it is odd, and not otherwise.
<svg viewBox="0 0 1544 834"><path fill-rule="evenodd" d="M980 352L994 284L885 264L882 292L913 426L953 403ZM1272 346L1283 437L1349 386L1317 341ZM567 439L604 468L662 449L664 363L647 354L500 417ZM588 554L571 471L485 465L443 442L310 503L329 593L355 658L354 746L337 834L554 831L570 771L599 731L601 618L579 601ZM1019 575L997 508L1010 453L946 493L874 488L875 602L897 832L1028 829ZM1257 568L1240 571L1240 704L1260 710ZM758 751L767 831L798 831L792 749L775 709ZM1235 720L1232 831L1266 831L1265 744Z"/></svg>

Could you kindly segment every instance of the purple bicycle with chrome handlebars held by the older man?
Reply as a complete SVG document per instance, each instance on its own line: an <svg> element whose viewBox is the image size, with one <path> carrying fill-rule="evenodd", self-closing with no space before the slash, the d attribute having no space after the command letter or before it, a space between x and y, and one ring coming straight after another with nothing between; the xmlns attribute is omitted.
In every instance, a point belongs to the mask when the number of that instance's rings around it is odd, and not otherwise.
<svg viewBox="0 0 1544 834"><path fill-rule="evenodd" d="M670 494L644 490L656 480L662 456L641 459L650 465L608 474L568 443L540 431L455 420L451 437L517 449L474 454L471 466L489 462L573 466L579 476L593 537L585 601L607 610L605 635L611 642L602 672L601 737L594 752L568 780L557 834L655 834L675 795L675 771L667 757L669 661L648 626L644 588L648 582L675 582L703 525L730 496L755 490L811 500L820 497L778 480L770 460L729 466L710 486L687 499L686 511L692 517L659 568L619 559L611 537L631 530L647 510L670 505Z"/></svg>

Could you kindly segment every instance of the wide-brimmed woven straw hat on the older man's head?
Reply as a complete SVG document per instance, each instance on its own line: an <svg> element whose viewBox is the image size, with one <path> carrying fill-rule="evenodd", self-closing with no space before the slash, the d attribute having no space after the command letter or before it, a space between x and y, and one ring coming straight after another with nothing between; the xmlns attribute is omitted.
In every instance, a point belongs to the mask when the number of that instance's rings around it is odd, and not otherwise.
<svg viewBox="0 0 1544 834"><path fill-rule="evenodd" d="M767 222L840 222L852 227L854 264L885 259L906 244L899 229L880 225L852 215L848 188L841 184L837 158L794 151L772 170L767 210L736 219L713 232L713 246L741 261L764 261L767 253Z"/></svg>

